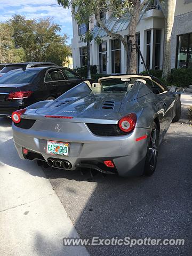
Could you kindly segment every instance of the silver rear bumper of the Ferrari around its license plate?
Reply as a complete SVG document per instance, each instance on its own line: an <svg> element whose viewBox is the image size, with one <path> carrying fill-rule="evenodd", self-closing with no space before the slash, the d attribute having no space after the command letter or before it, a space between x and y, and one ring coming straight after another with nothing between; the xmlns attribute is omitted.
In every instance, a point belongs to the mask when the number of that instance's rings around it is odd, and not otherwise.
<svg viewBox="0 0 192 256"><path fill-rule="evenodd" d="M49 137L49 132L44 132L44 136L47 135L48 137L42 137L42 131L37 132L35 129L33 130L33 127L29 130L23 130L13 124L12 128L15 147L21 159L25 159L22 153L22 148L25 147L40 154L45 161L50 157L67 160L72 164L71 170L75 170L78 166L83 167L82 164L92 164L93 161L112 160L116 172L122 177L139 176L143 173L149 138L148 129L137 127L129 135L108 138L95 136L90 132L87 134L87 140L82 140L81 133L78 133L79 139L71 140L67 133L58 134L55 132L54 137L52 135ZM136 138L145 134L148 135L147 139L136 141ZM46 154L47 140L69 142L69 156ZM113 170L111 169L111 171Z"/></svg>

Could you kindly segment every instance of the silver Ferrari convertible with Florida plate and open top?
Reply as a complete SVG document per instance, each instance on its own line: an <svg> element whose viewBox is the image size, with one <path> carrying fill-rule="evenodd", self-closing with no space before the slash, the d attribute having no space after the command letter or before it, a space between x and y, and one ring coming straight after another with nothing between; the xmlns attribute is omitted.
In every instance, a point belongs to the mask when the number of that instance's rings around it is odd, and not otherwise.
<svg viewBox="0 0 192 256"><path fill-rule="evenodd" d="M171 122L179 121L183 91L149 75L85 81L54 101L15 111L15 147L22 159L63 170L151 175L159 144Z"/></svg>

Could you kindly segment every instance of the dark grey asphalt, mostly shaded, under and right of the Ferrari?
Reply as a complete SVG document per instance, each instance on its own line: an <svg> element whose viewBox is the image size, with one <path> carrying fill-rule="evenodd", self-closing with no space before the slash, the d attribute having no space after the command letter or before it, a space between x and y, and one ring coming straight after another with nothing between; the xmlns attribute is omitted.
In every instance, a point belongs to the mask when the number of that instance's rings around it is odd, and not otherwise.
<svg viewBox="0 0 192 256"><path fill-rule="evenodd" d="M191 256L192 126L188 107L172 123L159 149L152 177L123 179L46 169L82 238L184 238L182 246L87 246L90 255Z"/></svg>

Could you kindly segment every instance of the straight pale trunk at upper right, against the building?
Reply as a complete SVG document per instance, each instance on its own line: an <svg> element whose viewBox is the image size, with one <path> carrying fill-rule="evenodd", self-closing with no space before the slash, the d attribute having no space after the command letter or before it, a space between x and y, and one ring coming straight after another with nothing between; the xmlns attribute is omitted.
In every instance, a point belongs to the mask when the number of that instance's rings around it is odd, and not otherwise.
<svg viewBox="0 0 192 256"><path fill-rule="evenodd" d="M165 41L164 41L164 59L163 59L163 75L167 79L171 74L171 33L174 23L176 0L166 0L165 11Z"/></svg>

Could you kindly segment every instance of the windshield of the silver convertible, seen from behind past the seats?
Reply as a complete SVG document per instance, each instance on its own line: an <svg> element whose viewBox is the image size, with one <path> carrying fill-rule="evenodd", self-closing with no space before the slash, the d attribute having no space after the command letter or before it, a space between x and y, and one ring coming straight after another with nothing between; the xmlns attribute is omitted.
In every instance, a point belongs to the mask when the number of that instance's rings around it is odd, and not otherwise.
<svg viewBox="0 0 192 256"><path fill-rule="evenodd" d="M103 92L129 92L137 78L109 78L101 81Z"/></svg>

